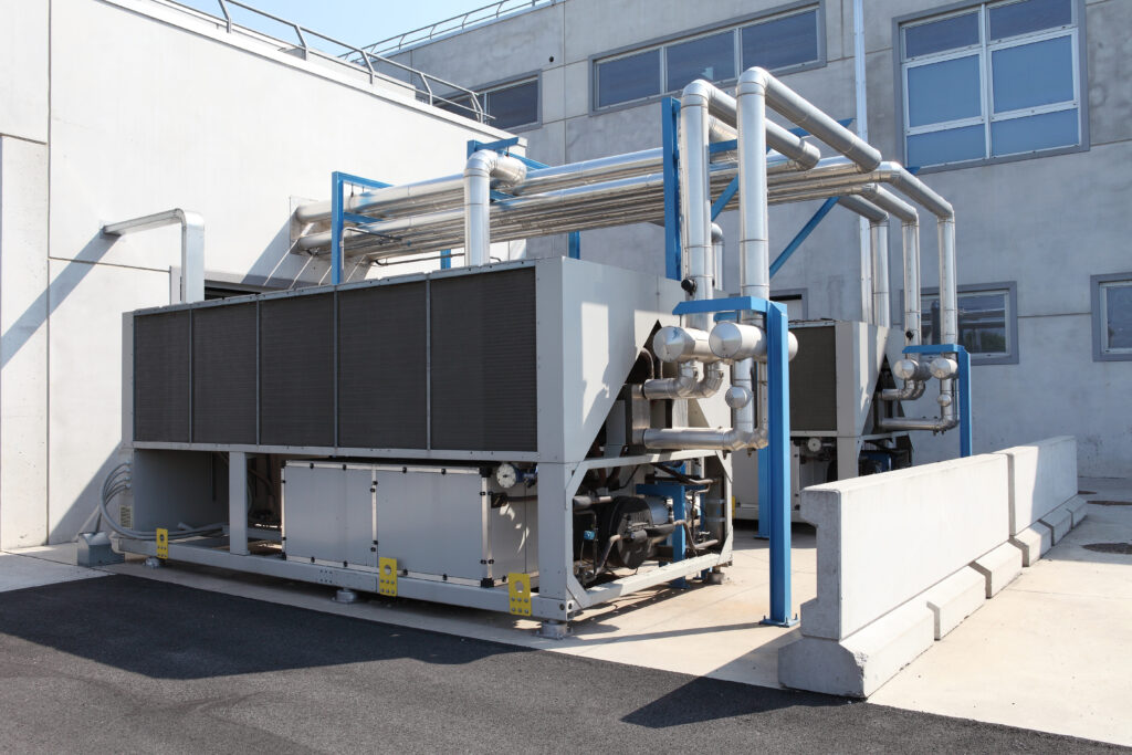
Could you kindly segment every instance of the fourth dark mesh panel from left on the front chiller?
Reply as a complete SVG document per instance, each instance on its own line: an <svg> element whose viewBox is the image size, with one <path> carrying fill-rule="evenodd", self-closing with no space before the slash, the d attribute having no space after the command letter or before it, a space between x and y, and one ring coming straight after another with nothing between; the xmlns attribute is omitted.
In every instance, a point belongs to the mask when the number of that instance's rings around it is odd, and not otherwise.
<svg viewBox="0 0 1132 755"><path fill-rule="evenodd" d="M340 446L427 447L424 285L338 293Z"/></svg>

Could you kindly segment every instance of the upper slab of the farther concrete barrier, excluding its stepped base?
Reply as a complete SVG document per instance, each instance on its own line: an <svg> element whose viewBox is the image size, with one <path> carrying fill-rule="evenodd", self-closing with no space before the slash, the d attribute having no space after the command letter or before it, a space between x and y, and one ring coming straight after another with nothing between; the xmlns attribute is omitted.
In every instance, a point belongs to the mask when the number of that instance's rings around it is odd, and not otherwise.
<svg viewBox="0 0 1132 755"><path fill-rule="evenodd" d="M1077 496L1077 439L1047 438L998 454L1010 464L1010 533L1022 530Z"/></svg>

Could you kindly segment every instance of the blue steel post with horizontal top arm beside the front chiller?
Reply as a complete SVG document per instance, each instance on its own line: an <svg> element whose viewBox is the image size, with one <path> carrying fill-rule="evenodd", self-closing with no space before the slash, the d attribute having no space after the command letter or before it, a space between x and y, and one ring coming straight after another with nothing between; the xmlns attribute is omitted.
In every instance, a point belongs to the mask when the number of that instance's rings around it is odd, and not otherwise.
<svg viewBox="0 0 1132 755"><path fill-rule="evenodd" d="M758 460L758 515L762 526L763 512L769 514L766 527L771 551L771 612L763 619L763 624L787 627L797 624L798 619L790 614L790 334L786 304L754 297L701 299L681 301L672 314L717 312L715 319L741 319L740 312L745 311L760 312L766 318L770 443L765 448L765 456L760 456ZM762 497L764 487L766 498Z"/></svg>

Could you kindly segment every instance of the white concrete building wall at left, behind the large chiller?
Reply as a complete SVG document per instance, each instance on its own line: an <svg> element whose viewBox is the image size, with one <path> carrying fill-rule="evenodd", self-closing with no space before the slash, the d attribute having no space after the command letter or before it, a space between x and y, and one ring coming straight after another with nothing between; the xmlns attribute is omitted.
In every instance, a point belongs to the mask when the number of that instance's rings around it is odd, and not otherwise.
<svg viewBox="0 0 1132 755"><path fill-rule="evenodd" d="M177 229L104 223L196 211L206 277L309 283L326 265L289 254L290 214L332 171L457 173L468 139L507 136L156 0L54 0L50 33L46 5L0 5L20 72L0 80L2 547L68 540L93 511L121 439L120 315L170 301Z"/></svg>

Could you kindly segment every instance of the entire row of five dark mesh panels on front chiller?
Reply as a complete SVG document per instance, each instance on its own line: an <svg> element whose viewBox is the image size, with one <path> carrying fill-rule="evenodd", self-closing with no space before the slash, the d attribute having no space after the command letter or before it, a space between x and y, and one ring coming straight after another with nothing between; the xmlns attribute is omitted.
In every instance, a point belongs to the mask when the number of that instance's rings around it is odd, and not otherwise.
<svg viewBox="0 0 1132 755"><path fill-rule="evenodd" d="M139 311L132 351L138 443L538 451L533 265Z"/></svg>

